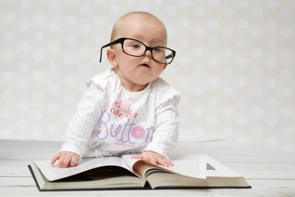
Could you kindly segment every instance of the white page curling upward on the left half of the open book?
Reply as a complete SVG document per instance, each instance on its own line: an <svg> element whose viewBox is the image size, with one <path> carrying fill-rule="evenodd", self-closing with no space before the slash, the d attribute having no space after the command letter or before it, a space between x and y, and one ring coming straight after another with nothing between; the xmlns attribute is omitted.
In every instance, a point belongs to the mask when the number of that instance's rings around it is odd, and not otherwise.
<svg viewBox="0 0 295 197"><path fill-rule="evenodd" d="M34 161L34 163L38 166L38 168L42 171L44 176L49 181L58 180L61 178L72 176L74 174L79 174L89 169L108 165L123 167L133 172L132 168L130 168L120 157L85 158L82 159L78 165L66 168L58 168L58 162L56 162L56 164L52 166L50 162L50 160Z"/></svg>

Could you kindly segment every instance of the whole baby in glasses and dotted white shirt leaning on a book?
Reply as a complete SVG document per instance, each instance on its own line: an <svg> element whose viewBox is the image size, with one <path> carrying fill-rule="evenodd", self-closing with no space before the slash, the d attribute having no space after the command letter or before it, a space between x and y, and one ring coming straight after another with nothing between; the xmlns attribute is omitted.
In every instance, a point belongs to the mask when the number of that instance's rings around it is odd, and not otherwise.
<svg viewBox="0 0 295 197"><path fill-rule="evenodd" d="M75 166L81 158L140 153L132 158L173 166L180 95L159 77L176 55L164 24L147 12L130 12L115 23L107 58L112 65L87 81L87 91L51 161Z"/></svg>

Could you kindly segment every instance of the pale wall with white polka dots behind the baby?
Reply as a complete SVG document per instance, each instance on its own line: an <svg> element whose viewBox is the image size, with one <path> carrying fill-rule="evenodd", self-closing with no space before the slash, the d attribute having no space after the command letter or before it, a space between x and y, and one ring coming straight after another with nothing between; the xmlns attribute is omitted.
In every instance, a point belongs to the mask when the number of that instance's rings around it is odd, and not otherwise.
<svg viewBox="0 0 295 197"><path fill-rule="evenodd" d="M62 140L85 81L107 69L114 22L158 16L177 51L161 75L182 95L179 140L294 152L293 0L0 2L0 138Z"/></svg>

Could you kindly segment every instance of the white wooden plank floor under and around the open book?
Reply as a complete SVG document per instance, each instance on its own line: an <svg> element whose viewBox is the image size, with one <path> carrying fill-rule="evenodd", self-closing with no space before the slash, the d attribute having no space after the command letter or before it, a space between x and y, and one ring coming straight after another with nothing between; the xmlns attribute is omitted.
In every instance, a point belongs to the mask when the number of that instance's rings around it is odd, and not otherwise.
<svg viewBox="0 0 295 197"><path fill-rule="evenodd" d="M61 143L0 140L0 197L295 197L295 154L222 140L179 143L175 153L208 154L244 176L252 189L39 192L27 165L32 160L51 160Z"/></svg>

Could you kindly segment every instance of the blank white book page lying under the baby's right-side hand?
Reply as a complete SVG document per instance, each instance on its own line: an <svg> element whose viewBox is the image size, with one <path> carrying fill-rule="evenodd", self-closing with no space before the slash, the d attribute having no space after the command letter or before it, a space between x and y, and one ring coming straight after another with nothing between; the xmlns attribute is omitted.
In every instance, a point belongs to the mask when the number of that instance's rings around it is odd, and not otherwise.
<svg viewBox="0 0 295 197"><path fill-rule="evenodd" d="M170 160L174 166L165 167L163 165L155 165L145 160L132 159L135 154L122 155L122 159L132 169L138 161L145 162L150 168L162 169L168 172L181 174L184 176L206 179L207 155L171 155ZM146 166L145 166L146 168ZM140 171L143 171L141 169ZM146 170L145 170L146 171Z"/></svg>

